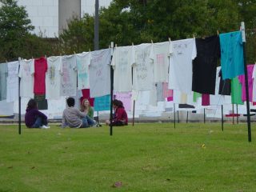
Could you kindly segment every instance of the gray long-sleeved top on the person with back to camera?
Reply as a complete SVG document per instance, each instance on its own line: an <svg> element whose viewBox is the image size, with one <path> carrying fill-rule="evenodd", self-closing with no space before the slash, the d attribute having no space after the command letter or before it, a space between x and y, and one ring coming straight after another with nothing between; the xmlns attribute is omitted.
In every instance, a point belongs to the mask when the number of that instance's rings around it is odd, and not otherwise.
<svg viewBox="0 0 256 192"><path fill-rule="evenodd" d="M82 118L85 118L86 114L82 113L76 107L68 107L62 114L62 127L70 126L71 128L79 128L82 126Z"/></svg>

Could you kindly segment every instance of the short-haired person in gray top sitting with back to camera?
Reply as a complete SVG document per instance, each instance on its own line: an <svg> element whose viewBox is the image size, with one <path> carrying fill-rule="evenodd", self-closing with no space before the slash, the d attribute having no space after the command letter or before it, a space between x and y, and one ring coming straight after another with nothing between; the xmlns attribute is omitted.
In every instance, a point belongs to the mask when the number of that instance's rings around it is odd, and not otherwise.
<svg viewBox="0 0 256 192"><path fill-rule="evenodd" d="M74 107L74 98L67 98L66 103L68 108L62 114L62 128L66 126L70 126L70 128L86 128L97 125L87 114Z"/></svg>

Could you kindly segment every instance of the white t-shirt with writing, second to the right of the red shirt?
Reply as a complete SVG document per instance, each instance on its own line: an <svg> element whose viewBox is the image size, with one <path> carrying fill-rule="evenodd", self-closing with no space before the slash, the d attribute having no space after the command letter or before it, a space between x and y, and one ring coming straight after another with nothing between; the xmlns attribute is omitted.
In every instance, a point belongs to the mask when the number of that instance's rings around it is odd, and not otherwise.
<svg viewBox="0 0 256 192"><path fill-rule="evenodd" d="M62 57L61 95L76 96L77 94L77 67L74 55Z"/></svg>

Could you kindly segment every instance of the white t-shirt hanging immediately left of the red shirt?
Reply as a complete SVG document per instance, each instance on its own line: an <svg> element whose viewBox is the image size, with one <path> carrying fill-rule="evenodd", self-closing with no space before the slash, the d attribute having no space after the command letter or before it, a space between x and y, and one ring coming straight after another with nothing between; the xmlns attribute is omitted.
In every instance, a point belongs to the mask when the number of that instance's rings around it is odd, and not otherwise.
<svg viewBox="0 0 256 192"><path fill-rule="evenodd" d="M20 62L18 77L21 78L21 97L34 98L34 59L24 59Z"/></svg>

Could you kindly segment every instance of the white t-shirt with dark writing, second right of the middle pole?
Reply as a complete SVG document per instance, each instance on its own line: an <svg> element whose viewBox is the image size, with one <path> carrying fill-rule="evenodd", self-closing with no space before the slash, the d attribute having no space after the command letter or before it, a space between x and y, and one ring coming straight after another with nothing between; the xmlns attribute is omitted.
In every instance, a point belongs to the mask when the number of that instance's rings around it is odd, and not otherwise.
<svg viewBox="0 0 256 192"><path fill-rule="evenodd" d="M151 90L153 84L153 44L134 46L135 64L133 75L134 90Z"/></svg>

